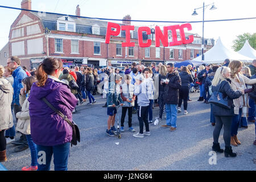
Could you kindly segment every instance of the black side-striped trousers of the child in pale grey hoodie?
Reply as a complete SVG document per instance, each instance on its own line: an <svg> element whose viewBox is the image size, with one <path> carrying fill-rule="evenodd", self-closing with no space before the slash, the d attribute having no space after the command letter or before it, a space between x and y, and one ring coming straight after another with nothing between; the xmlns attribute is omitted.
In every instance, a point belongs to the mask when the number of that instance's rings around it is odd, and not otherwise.
<svg viewBox="0 0 256 182"><path fill-rule="evenodd" d="M143 134L143 123L145 123L146 131L149 130L149 124L148 124L148 108L149 106L138 106L137 107L137 114L138 114L138 120L139 120L139 133Z"/></svg>

